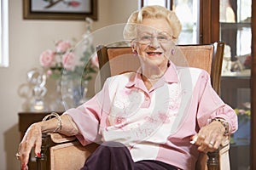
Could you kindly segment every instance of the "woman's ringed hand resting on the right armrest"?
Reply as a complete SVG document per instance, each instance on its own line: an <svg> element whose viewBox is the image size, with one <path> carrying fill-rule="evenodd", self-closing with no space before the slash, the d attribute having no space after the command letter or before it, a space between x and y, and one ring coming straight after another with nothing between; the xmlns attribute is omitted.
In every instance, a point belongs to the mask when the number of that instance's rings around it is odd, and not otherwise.
<svg viewBox="0 0 256 170"><path fill-rule="evenodd" d="M225 139L224 131L225 128L221 122L213 121L207 126L201 127L199 133L193 137L195 145L198 146L198 150L205 153L217 150L219 145Z"/></svg>

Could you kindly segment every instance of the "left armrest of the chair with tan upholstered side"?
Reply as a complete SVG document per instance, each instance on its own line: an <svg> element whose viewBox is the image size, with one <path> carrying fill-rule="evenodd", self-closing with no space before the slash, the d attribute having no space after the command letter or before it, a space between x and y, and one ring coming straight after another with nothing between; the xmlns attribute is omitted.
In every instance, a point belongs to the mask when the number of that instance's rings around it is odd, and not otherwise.
<svg viewBox="0 0 256 170"><path fill-rule="evenodd" d="M75 136L43 133L41 157L36 157L37 170L79 169L97 146L98 144L83 146Z"/></svg>

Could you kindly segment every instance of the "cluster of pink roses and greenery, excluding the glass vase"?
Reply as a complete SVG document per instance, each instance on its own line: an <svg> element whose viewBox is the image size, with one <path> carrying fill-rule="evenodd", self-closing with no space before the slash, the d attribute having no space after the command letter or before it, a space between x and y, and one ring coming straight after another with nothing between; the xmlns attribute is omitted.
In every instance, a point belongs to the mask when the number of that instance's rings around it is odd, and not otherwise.
<svg viewBox="0 0 256 170"><path fill-rule="evenodd" d="M63 75L68 79L90 80L91 73L96 73L98 68L97 56L93 54L93 51L92 45L86 48L78 62L73 53L72 43L67 40L59 40L55 42L54 50L47 49L40 54L39 61L47 75L55 80Z"/></svg>

